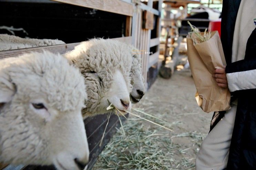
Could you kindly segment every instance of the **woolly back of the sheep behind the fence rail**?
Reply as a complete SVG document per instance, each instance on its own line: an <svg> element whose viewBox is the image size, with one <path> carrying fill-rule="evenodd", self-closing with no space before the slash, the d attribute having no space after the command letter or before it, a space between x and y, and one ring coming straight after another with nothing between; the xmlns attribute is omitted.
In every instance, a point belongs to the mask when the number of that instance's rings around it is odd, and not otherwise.
<svg viewBox="0 0 256 170"><path fill-rule="evenodd" d="M65 43L58 39L21 38L14 35L0 34L0 51L57 44Z"/></svg>

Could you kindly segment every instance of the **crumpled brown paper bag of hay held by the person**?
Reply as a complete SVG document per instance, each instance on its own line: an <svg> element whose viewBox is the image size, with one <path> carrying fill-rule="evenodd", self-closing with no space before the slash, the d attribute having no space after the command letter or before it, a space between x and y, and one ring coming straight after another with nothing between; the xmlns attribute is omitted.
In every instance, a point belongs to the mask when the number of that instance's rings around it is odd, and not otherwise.
<svg viewBox="0 0 256 170"><path fill-rule="evenodd" d="M211 32L208 41L196 45L188 35L187 56L197 90L197 104L207 113L230 109L229 90L218 87L212 77L216 68L224 68L226 65L218 33Z"/></svg>

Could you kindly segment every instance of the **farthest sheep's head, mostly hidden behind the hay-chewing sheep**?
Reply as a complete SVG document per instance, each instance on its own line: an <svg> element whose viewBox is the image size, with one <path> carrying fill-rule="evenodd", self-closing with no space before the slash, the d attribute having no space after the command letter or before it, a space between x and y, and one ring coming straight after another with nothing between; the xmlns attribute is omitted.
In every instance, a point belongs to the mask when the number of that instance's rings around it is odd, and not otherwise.
<svg viewBox="0 0 256 170"><path fill-rule="evenodd" d="M133 86L130 98L132 103L138 103L145 94L145 84L142 76L140 51L130 45L133 60L130 72L131 84Z"/></svg>

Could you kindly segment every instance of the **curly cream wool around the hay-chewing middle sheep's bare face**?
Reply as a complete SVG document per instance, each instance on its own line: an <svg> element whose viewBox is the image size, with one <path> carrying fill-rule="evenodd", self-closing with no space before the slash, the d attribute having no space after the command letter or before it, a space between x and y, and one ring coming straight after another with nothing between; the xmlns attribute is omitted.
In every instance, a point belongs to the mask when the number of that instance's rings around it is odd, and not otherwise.
<svg viewBox="0 0 256 170"><path fill-rule="evenodd" d="M84 75L89 98L84 110L86 115L92 116L100 111L101 99L111 88L115 70L121 71L128 91L131 92L132 57L127 44L111 39L94 38L82 42L65 56Z"/></svg>

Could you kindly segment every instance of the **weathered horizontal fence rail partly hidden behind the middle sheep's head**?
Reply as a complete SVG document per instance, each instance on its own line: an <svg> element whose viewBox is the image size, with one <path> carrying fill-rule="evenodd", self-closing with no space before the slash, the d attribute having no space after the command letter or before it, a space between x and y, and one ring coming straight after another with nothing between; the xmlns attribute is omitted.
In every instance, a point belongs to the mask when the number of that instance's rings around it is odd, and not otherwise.
<svg viewBox="0 0 256 170"><path fill-rule="evenodd" d="M112 39L124 42L126 44L131 44L131 42L132 42L131 36L112 38ZM6 57L17 57L21 54L29 53L29 52L43 52L43 50L48 50L55 54L56 53L65 54L66 52L73 50L74 47L78 44L80 44L80 43L70 43L70 44L60 44L60 45L51 45L51 46L43 46L43 47L33 47L33 48L23 48L23 49L0 51L0 59L6 58Z"/></svg>

